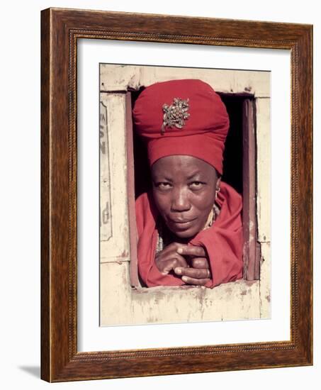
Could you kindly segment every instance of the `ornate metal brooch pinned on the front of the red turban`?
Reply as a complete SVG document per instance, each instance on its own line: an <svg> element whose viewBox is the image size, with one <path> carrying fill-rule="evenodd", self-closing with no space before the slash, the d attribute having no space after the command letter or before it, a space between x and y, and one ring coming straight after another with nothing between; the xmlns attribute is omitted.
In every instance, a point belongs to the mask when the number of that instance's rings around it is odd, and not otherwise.
<svg viewBox="0 0 321 390"><path fill-rule="evenodd" d="M163 124L161 133L165 133L165 126L172 128L183 128L185 120L188 119L190 114L187 112L189 108L189 99L174 98L173 103L169 106L168 104L163 105Z"/></svg>

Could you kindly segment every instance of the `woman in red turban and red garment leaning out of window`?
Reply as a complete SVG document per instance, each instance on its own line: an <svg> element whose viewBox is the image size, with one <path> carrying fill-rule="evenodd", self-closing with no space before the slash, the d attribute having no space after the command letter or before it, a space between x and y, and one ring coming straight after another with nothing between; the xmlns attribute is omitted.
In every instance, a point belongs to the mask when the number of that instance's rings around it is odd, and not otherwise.
<svg viewBox="0 0 321 390"><path fill-rule="evenodd" d="M137 257L147 286L214 287L242 277L242 199L221 182L229 119L198 79L147 87L135 102L152 191L136 201Z"/></svg>

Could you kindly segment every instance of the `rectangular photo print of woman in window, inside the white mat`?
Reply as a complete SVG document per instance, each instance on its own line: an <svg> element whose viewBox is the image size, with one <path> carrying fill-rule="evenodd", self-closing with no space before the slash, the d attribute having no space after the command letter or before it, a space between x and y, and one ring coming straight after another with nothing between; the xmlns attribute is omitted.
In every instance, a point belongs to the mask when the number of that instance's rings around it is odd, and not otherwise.
<svg viewBox="0 0 321 390"><path fill-rule="evenodd" d="M270 72L104 64L100 325L270 317Z"/></svg>

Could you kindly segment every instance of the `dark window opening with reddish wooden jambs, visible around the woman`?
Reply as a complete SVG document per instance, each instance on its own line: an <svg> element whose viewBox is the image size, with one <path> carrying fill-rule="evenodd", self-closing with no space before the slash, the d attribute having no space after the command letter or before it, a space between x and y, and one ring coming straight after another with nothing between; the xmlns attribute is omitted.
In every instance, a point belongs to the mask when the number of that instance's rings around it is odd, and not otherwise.
<svg viewBox="0 0 321 390"><path fill-rule="evenodd" d="M142 92L130 91L126 98L128 131L128 193L130 210L130 279L134 287L141 287L137 271L137 247L134 235L135 199L151 188L147 150L142 140L133 131L132 107ZM230 130L225 141L223 182L230 184L243 198L243 279L259 279L260 247L257 243L257 156L255 135L255 99L250 94L220 93L230 117ZM131 176L131 179L130 179ZM133 183L134 178L134 183Z"/></svg>

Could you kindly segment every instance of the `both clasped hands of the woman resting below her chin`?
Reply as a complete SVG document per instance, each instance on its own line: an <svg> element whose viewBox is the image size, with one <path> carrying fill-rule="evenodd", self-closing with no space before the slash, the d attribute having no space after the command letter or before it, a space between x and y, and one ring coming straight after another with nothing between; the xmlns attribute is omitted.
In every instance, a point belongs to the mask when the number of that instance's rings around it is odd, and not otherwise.
<svg viewBox="0 0 321 390"><path fill-rule="evenodd" d="M158 252L155 262L159 272L181 277L186 284L204 286L210 280L210 266L203 247L171 243Z"/></svg>

